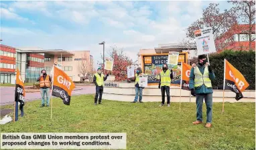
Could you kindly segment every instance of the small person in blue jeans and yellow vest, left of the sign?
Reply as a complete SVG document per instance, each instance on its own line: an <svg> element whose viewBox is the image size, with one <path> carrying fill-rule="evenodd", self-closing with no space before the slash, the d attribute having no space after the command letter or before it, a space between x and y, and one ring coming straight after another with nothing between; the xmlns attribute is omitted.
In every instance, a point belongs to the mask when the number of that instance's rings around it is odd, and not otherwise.
<svg viewBox="0 0 256 150"><path fill-rule="evenodd" d="M131 103L137 103L138 97L139 97L139 103L143 103L142 102L142 91L143 91L144 87L139 87L139 77L142 75L143 75L143 73L142 73L141 67L138 67L137 71L135 73L135 99Z"/></svg>

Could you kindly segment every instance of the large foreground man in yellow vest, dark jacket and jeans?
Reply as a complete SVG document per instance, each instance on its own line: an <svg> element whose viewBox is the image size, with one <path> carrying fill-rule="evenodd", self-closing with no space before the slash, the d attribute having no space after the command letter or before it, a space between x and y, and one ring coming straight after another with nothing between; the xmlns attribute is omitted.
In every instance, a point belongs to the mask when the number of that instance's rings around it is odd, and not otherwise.
<svg viewBox="0 0 256 150"><path fill-rule="evenodd" d="M202 103L206 103L206 125L212 126L212 80L215 79L212 67L208 65L206 55L198 56L198 65L193 64L190 71L190 90L191 95L196 96L196 121L194 125L202 123Z"/></svg>

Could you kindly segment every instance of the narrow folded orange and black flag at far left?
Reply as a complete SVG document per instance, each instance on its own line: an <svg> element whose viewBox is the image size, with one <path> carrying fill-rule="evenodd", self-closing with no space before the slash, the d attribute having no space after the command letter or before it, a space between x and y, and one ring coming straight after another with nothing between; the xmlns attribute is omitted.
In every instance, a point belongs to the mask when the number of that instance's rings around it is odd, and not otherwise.
<svg viewBox="0 0 256 150"><path fill-rule="evenodd" d="M24 83L21 79L21 75L19 73L19 69L17 69L16 75L16 87L15 87L15 101L19 101L19 109L22 109L23 105L25 105L25 88Z"/></svg>

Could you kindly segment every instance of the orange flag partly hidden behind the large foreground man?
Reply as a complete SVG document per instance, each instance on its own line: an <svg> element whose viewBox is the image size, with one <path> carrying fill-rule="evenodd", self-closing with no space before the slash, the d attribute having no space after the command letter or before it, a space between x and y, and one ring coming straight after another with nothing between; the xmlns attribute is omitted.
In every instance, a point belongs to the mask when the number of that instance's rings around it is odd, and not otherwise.
<svg viewBox="0 0 256 150"><path fill-rule="evenodd" d="M190 70L192 66L186 63L182 63L182 89L190 91Z"/></svg>

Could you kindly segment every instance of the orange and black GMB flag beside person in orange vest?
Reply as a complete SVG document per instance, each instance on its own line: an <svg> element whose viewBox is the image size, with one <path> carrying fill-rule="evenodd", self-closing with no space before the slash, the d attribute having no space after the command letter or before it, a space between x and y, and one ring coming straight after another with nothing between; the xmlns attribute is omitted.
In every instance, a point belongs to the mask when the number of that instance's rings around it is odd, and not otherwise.
<svg viewBox="0 0 256 150"><path fill-rule="evenodd" d="M75 85L64 71L53 65L53 87L52 95L60 97L65 105L70 105L71 92Z"/></svg>

